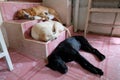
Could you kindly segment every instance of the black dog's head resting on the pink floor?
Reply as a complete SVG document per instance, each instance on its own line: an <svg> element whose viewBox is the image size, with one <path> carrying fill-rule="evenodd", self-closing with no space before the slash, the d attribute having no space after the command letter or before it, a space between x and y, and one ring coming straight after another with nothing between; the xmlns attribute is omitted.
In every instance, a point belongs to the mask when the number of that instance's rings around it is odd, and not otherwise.
<svg viewBox="0 0 120 80"><path fill-rule="evenodd" d="M52 61L48 61L48 64L46 65L52 70L58 71L62 74L65 74L68 71L68 68L65 64L65 62L61 58L54 59Z"/></svg>

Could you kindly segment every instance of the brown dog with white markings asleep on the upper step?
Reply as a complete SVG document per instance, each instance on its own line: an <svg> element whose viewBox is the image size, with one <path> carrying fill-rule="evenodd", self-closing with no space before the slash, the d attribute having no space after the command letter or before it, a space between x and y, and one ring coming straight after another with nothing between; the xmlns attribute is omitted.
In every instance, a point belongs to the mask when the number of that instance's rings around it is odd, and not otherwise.
<svg viewBox="0 0 120 80"><path fill-rule="evenodd" d="M45 6L35 6L28 9L21 9L18 10L14 15L14 20L19 19L35 19L36 16L39 16L40 18L44 20L49 19L49 15L53 15L54 19L61 22L57 12L52 9Z"/></svg>

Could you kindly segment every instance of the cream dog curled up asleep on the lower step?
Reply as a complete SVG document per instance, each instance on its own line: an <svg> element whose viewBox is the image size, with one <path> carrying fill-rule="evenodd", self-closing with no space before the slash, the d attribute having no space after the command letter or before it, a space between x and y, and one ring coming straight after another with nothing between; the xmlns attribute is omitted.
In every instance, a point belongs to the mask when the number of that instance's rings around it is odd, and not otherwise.
<svg viewBox="0 0 120 80"><path fill-rule="evenodd" d="M46 42L57 38L64 30L67 30L68 36L71 36L69 30L60 22L49 20L33 25L31 29L31 36L35 40Z"/></svg>

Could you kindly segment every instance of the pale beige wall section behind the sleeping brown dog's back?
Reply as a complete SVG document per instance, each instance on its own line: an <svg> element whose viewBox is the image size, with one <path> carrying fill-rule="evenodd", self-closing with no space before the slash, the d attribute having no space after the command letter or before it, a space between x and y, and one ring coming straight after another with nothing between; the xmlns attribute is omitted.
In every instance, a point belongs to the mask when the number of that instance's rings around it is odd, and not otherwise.
<svg viewBox="0 0 120 80"><path fill-rule="evenodd" d="M43 0L43 4L55 9L63 23L71 24L71 0Z"/></svg>

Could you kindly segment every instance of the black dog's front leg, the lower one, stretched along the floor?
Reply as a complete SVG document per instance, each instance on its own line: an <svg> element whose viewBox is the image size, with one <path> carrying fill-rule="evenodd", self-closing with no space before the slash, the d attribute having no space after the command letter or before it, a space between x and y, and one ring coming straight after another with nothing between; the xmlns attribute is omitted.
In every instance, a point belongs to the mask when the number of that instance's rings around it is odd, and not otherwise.
<svg viewBox="0 0 120 80"><path fill-rule="evenodd" d="M74 61L80 64L84 69L90 71L94 74L103 75L103 71L95 66L93 66L91 63L89 63L84 57L82 57L78 51L75 49L69 50L70 54L73 54Z"/></svg>

